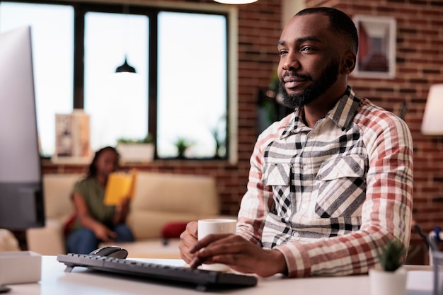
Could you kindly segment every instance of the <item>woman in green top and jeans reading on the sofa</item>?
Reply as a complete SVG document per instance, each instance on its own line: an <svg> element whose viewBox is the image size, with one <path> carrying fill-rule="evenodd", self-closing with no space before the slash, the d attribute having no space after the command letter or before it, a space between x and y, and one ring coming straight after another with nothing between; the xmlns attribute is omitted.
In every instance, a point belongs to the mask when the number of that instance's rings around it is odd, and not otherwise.
<svg viewBox="0 0 443 295"><path fill-rule="evenodd" d="M130 199L123 199L118 206L103 204L108 176L117 170L118 158L117 150L111 146L98 150L86 178L74 185L72 200L76 214L67 238L69 253L91 253L101 242L134 241L125 224Z"/></svg>

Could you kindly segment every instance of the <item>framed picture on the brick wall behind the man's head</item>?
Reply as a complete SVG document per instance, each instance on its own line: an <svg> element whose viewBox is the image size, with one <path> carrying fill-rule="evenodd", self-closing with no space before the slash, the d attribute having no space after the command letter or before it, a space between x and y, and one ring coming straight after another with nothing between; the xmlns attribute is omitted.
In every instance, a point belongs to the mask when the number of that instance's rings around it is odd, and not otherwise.
<svg viewBox="0 0 443 295"><path fill-rule="evenodd" d="M396 19L385 16L354 16L353 21L359 35L359 48L352 76L395 78Z"/></svg>

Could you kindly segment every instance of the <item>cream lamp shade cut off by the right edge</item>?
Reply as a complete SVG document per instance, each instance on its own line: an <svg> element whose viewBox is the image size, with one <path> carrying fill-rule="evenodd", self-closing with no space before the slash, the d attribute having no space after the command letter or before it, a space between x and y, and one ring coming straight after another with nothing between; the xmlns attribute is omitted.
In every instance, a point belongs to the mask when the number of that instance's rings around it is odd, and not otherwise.
<svg viewBox="0 0 443 295"><path fill-rule="evenodd" d="M432 85L423 115L422 134L443 135L443 84Z"/></svg>

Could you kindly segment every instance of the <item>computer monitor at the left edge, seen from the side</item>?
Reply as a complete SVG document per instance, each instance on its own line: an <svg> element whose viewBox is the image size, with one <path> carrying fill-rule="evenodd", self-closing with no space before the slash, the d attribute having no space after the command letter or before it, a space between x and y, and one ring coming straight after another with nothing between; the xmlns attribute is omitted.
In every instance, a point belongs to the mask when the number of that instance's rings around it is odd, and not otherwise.
<svg viewBox="0 0 443 295"><path fill-rule="evenodd" d="M45 225L30 28L0 35L0 228Z"/></svg>

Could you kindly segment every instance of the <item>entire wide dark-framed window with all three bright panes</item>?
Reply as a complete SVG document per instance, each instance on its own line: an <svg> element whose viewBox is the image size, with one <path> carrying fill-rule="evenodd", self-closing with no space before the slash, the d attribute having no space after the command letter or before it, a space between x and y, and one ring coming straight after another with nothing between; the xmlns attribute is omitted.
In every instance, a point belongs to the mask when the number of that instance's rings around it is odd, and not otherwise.
<svg viewBox="0 0 443 295"><path fill-rule="evenodd" d="M188 158L227 158L228 13L122 10L76 1L0 3L0 32L32 26L42 155L54 152L55 114L84 108L93 150L149 132L158 158L175 158L178 139L192 143ZM115 74L125 57L137 74Z"/></svg>

